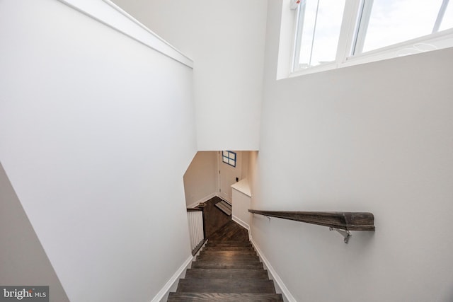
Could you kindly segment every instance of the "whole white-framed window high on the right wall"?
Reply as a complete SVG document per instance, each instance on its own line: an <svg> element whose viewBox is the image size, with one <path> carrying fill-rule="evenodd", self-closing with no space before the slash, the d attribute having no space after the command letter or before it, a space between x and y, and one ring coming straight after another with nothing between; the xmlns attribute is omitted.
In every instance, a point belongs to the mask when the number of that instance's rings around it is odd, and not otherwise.
<svg viewBox="0 0 453 302"><path fill-rule="evenodd" d="M293 71L321 71L453 46L449 0L293 1L299 2Z"/></svg>

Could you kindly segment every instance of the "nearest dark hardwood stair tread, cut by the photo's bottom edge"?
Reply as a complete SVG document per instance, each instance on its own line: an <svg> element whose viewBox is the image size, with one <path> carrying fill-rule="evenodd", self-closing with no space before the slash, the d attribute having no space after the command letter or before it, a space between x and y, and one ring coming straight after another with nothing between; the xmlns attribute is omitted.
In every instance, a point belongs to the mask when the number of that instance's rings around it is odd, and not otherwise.
<svg viewBox="0 0 453 302"><path fill-rule="evenodd" d="M281 294L170 293L168 302L283 302Z"/></svg>

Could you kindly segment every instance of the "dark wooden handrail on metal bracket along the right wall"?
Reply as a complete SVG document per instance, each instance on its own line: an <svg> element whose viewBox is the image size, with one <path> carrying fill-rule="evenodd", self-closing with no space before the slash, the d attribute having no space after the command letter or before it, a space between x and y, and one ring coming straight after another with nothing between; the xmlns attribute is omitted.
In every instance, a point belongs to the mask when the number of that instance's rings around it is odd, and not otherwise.
<svg viewBox="0 0 453 302"><path fill-rule="evenodd" d="M374 231L374 215L367 212L323 212L323 211L258 211L253 214L302 221L306 223L340 228L345 231Z"/></svg>

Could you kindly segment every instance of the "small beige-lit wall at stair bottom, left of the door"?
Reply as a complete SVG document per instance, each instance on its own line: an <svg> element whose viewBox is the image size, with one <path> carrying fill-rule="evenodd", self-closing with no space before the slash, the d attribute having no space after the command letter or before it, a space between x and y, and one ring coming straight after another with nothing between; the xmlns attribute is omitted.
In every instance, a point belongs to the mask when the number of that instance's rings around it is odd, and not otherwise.
<svg viewBox="0 0 453 302"><path fill-rule="evenodd" d="M217 151L197 152L184 174L185 204L206 202L219 192Z"/></svg>

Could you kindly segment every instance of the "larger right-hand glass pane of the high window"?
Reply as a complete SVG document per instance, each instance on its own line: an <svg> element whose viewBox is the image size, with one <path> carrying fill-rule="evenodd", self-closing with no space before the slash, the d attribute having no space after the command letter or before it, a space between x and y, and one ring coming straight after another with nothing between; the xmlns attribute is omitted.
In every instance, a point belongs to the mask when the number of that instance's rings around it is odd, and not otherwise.
<svg viewBox="0 0 453 302"><path fill-rule="evenodd" d="M362 52L430 35L441 4L442 0L374 0Z"/></svg>

